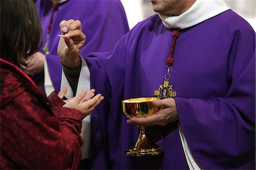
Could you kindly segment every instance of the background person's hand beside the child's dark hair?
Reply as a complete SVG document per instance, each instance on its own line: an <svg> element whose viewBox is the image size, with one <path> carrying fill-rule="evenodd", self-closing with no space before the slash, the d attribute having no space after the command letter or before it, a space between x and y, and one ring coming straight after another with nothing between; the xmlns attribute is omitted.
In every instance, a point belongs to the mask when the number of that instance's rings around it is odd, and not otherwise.
<svg viewBox="0 0 256 170"><path fill-rule="evenodd" d="M34 55L28 57L26 63L27 67L23 67L23 71L28 75L34 75L44 70L44 60L46 56L42 52L36 52Z"/></svg>

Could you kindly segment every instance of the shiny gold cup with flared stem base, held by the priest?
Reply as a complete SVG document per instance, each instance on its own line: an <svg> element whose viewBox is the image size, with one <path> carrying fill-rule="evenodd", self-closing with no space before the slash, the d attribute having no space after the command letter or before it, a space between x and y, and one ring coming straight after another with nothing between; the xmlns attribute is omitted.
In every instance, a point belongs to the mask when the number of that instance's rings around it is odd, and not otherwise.
<svg viewBox="0 0 256 170"><path fill-rule="evenodd" d="M123 113L127 118L147 117L159 111L158 107L152 105L152 101L159 99L155 97L130 98L122 101ZM139 127L139 136L134 146L126 150L129 156L157 155L162 152L162 148L151 143L147 138L143 126Z"/></svg>

